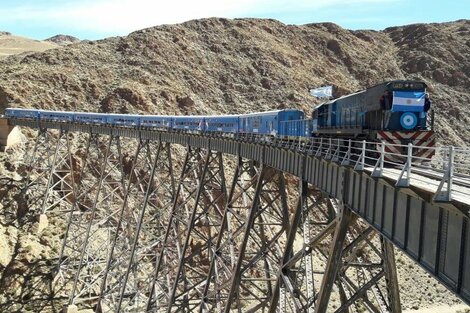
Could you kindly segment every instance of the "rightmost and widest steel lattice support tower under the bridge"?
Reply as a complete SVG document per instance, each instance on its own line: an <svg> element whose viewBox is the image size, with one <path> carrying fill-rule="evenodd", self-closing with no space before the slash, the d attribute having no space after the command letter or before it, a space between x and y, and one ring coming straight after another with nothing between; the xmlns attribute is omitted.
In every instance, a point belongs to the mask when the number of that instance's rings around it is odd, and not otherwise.
<svg viewBox="0 0 470 313"><path fill-rule="evenodd" d="M369 312L401 312L393 248L353 213L340 207L315 312L327 312L333 285L341 305ZM383 288L385 286L385 289Z"/></svg>

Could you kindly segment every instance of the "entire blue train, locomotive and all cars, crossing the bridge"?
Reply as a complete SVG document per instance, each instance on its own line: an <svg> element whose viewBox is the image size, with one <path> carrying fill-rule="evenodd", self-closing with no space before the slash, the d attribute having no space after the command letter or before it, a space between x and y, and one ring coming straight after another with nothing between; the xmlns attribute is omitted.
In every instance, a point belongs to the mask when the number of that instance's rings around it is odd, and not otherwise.
<svg viewBox="0 0 470 313"><path fill-rule="evenodd" d="M383 142L387 152L406 154L404 146L433 147L431 101L421 81L394 80L326 101L312 109L310 118L298 109L232 115L132 115L60 112L7 108L7 118L75 122L146 129L257 134L275 137L333 137ZM431 114L432 115L432 114ZM431 157L433 149L416 149Z"/></svg>

